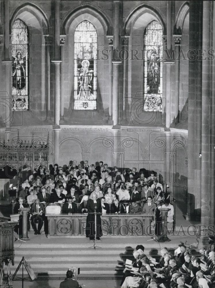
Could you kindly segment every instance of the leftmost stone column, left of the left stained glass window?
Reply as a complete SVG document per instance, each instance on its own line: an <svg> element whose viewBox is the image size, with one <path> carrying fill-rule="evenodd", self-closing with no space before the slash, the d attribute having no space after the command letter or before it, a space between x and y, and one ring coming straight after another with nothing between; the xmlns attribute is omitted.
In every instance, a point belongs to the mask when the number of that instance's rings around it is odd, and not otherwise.
<svg viewBox="0 0 215 288"><path fill-rule="evenodd" d="M6 128L10 126L10 118L11 118L11 95L12 95L12 87L11 87L11 75L12 75L12 61L10 59L10 37L9 35L9 1L5 0L4 3L4 60L2 61L5 64L5 97L3 101L5 102L4 108L4 122Z"/></svg>

